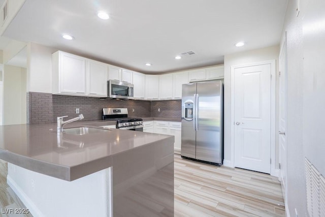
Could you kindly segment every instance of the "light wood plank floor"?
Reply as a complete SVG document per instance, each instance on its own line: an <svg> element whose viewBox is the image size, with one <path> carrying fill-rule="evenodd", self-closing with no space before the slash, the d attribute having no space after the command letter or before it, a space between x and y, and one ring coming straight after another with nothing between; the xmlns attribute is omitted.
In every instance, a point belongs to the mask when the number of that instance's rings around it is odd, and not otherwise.
<svg viewBox="0 0 325 217"><path fill-rule="evenodd" d="M285 216L277 177L202 164L179 154L174 167L175 216ZM5 208L24 208L6 177L7 163L0 160L0 216L11 216L2 213Z"/></svg>

